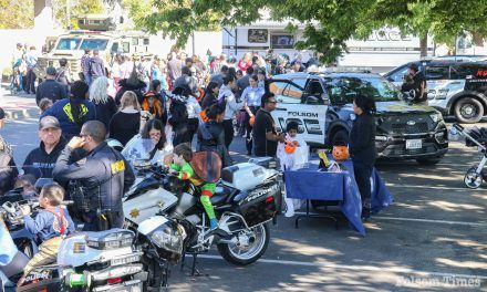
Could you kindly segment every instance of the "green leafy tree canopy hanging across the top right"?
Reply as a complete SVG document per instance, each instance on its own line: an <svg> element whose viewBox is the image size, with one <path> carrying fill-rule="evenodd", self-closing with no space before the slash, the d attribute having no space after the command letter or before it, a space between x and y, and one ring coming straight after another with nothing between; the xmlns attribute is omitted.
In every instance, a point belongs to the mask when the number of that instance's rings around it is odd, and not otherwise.
<svg viewBox="0 0 487 292"><path fill-rule="evenodd" d="M124 0L137 2L137 0ZM320 52L321 60L333 62L346 50L350 38L366 39L385 25L398 27L422 40L425 53L427 35L437 42L452 42L465 31L487 35L484 15L487 1L452 0L144 0L144 9L131 10L139 28L186 42L200 28L248 24L261 18L263 9L271 18L305 25L298 49ZM141 7L138 7L141 8ZM134 12L135 11L135 12ZM193 14L194 13L194 14ZM193 18L195 15L195 18ZM194 21L193 21L194 20Z"/></svg>

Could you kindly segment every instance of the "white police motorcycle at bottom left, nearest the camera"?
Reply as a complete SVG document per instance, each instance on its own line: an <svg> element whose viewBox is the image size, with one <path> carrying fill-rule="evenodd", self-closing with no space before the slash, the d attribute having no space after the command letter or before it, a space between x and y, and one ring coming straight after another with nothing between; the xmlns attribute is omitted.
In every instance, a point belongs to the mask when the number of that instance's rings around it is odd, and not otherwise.
<svg viewBox="0 0 487 292"><path fill-rule="evenodd" d="M23 226L24 206L35 212L39 204L4 202L0 207L8 228ZM20 253L13 258L13 267L0 267L0 271L10 279L10 285L19 281L17 291L142 291L147 273L141 263L142 252L132 247L134 237L124 229L74 233L61 242L55 263L34 268L21 278L29 258ZM19 267L20 262L23 264Z"/></svg>

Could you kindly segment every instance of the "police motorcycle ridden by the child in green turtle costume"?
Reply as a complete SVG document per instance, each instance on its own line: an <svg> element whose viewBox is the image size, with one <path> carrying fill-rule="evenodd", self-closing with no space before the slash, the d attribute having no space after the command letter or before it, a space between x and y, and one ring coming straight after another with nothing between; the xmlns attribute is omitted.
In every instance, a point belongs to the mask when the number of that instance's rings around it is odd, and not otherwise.
<svg viewBox="0 0 487 292"><path fill-rule="evenodd" d="M222 169L222 179L211 197L219 229L211 232L194 186L169 175L163 166L143 159L132 161L138 175L125 195L124 213L128 222L144 229L158 247L159 255L166 250L173 252L170 262L179 261L174 257L179 253L183 260L186 253L196 260L198 253L216 244L227 261L246 265L265 253L269 243L267 222L274 218L282 198L279 173L269 168L271 158Z"/></svg>

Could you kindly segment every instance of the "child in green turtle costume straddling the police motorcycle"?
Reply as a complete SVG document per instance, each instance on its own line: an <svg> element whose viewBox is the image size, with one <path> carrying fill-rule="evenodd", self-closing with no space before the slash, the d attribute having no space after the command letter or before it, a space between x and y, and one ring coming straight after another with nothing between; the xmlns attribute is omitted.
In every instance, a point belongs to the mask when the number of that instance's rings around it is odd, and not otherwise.
<svg viewBox="0 0 487 292"><path fill-rule="evenodd" d="M205 182L196 175L195 170L189 165L191 158L193 150L190 146L187 144L179 144L173 150L173 164L170 164L169 168L173 174L177 174L179 179L189 180L195 187L198 187L201 190L201 197L199 200L205 208L206 215L208 215L209 229L215 230L218 228L218 220L215 217L215 210L210 198L215 194L216 184Z"/></svg>

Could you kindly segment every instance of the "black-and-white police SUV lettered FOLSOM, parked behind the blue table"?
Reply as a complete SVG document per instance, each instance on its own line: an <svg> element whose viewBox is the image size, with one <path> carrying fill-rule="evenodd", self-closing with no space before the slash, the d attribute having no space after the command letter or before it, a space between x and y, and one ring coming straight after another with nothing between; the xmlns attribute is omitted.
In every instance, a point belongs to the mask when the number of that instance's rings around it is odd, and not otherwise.
<svg viewBox="0 0 487 292"><path fill-rule="evenodd" d="M442 114L428 106L403 101L397 88L377 74L356 72L292 73L266 83L278 105L272 112L278 129L297 122L299 134L314 146L349 142L353 97L363 94L376 102L376 147L380 157L436 164L448 148Z"/></svg>

